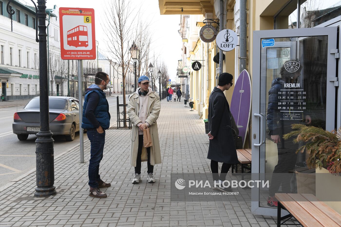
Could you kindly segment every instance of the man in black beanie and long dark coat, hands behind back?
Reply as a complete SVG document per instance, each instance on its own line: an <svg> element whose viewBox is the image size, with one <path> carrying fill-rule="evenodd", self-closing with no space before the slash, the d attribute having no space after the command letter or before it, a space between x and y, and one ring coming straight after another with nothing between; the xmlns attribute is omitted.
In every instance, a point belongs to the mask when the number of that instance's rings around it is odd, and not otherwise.
<svg viewBox="0 0 341 227"><path fill-rule="evenodd" d="M226 191L222 182L226 178L232 164L238 163L231 112L224 91L231 88L233 76L222 73L218 78L218 86L214 87L208 102L208 125L210 132L207 158L211 160L213 180L217 182L214 189ZM220 176L218 162L222 162Z"/></svg>

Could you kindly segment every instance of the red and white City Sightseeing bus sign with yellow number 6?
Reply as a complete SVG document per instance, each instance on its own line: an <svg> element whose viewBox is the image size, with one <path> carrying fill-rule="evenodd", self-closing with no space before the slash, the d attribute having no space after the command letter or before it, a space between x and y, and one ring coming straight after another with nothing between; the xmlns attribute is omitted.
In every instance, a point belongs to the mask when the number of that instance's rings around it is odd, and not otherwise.
<svg viewBox="0 0 341 227"><path fill-rule="evenodd" d="M60 52L63 60L96 59L93 9L59 8Z"/></svg>

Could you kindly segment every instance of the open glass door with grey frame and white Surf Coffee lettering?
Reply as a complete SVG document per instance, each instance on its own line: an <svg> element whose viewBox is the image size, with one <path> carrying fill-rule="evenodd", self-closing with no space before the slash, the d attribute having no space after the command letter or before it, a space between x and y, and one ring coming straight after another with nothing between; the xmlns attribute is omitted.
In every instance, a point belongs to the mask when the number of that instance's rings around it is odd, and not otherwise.
<svg viewBox="0 0 341 227"><path fill-rule="evenodd" d="M255 214L275 216L275 193L297 193L295 171L313 171L305 168L305 153L296 154L302 144L283 135L292 124L335 129L336 59L331 50L336 49L337 28L253 35L252 180L269 186L252 188L251 207Z"/></svg>

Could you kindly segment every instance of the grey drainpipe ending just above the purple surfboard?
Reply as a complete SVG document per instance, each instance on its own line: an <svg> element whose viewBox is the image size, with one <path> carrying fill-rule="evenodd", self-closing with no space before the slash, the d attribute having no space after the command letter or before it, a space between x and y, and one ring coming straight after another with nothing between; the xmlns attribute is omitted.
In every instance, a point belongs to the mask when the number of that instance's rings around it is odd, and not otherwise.
<svg viewBox="0 0 341 227"><path fill-rule="evenodd" d="M239 73L246 68L246 0L240 0Z"/></svg>

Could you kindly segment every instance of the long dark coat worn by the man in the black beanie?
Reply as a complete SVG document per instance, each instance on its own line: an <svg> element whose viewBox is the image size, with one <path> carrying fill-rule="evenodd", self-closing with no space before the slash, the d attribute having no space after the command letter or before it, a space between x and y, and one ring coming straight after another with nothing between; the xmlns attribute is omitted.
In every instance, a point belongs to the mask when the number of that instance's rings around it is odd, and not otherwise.
<svg viewBox="0 0 341 227"><path fill-rule="evenodd" d="M207 158L228 164L238 163L230 108L222 90L214 88L208 102L208 125L214 139L209 140Z"/></svg>

